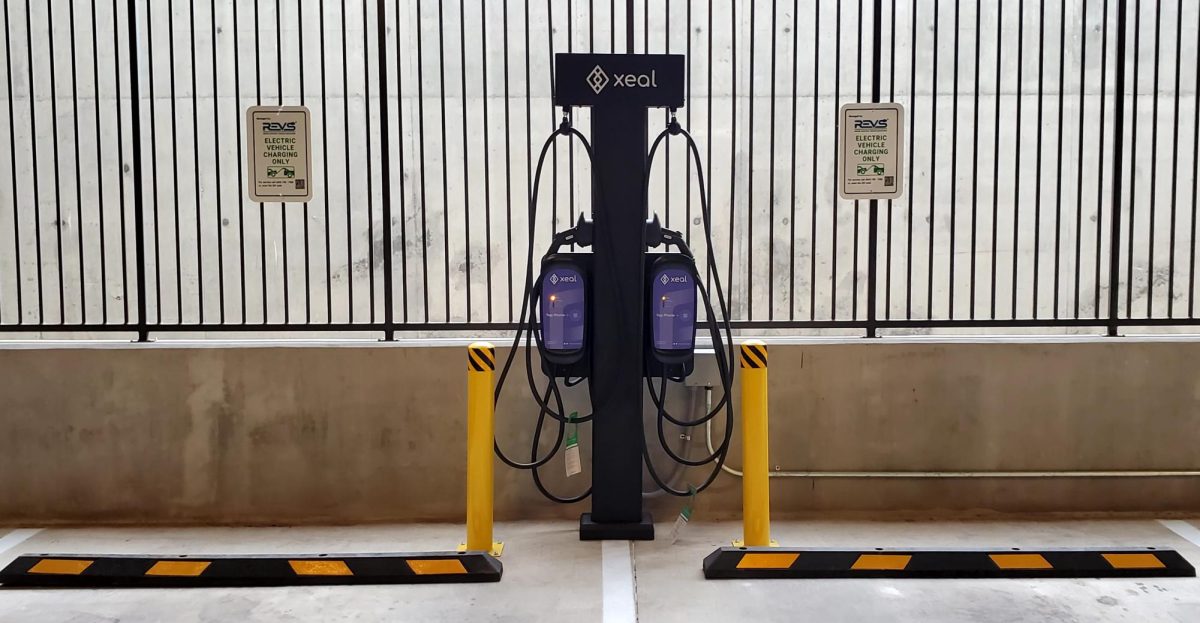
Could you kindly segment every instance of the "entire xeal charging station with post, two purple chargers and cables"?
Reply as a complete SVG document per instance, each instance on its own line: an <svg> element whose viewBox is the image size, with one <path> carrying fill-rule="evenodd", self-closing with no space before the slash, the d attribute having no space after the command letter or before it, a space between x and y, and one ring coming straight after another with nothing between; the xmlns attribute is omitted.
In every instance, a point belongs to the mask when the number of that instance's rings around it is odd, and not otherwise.
<svg viewBox="0 0 1200 623"><path fill-rule="evenodd" d="M728 311L713 259L700 151L673 114L685 101L685 58L679 54L556 55L554 104L563 110L563 122L542 146L529 222L534 222L536 211L541 164L558 137L581 142L592 161L592 209L590 216L578 215L574 228L554 236L536 275L530 242L521 322L496 393L499 396L523 336L527 378L541 413L530 462L514 461L499 447L497 455L511 467L532 469L534 483L552 501L580 502L590 495L592 510L580 517L580 538L584 540L654 538L653 520L642 508L643 465L660 489L676 496L690 495L664 483L650 462L642 425L646 388L650 389L660 420L679 426L703 425L725 412L726 437L712 456L690 461L664 443L667 455L682 465L715 463L697 491L715 479L728 447L733 418ZM571 126L570 112L580 107L592 109L592 143ZM667 127L653 144L647 136L650 108L672 112ZM670 136L683 136L689 156L696 161L708 245L706 274L715 289L715 307L683 235L664 228L648 209L650 166L658 146ZM590 247L590 252L560 252L566 244ZM653 251L658 247L665 248ZM667 413L665 390L668 379L682 382L694 370L700 301L704 304L704 322L713 337L725 396L704 417L680 420ZM548 378L545 389L535 387L533 378L534 346ZM545 490L538 468L562 447L568 423L558 379L570 385L583 378L588 379L592 413L571 421L592 423L592 489L582 496L558 498ZM658 394L655 379L660 381ZM536 442L546 415L558 421L559 439L548 455L538 459ZM659 431L664 442L662 421Z"/></svg>

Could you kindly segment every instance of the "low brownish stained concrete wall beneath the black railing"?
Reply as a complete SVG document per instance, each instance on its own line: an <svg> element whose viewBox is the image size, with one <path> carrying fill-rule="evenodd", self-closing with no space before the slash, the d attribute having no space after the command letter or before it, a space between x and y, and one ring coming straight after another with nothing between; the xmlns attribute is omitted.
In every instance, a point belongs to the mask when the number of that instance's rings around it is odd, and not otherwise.
<svg viewBox="0 0 1200 623"><path fill-rule="evenodd" d="M463 351L374 345L0 348L0 522L460 520ZM1195 340L773 342L770 363L779 469L1200 469ZM586 412L580 389L566 397ZM497 413L517 459L528 459L529 405L518 373ZM581 438L587 465L587 427ZM562 473L552 461L547 486L587 486L587 472ZM697 513L736 516L739 487L722 475ZM780 515L1200 509L1194 478L780 478L772 490ZM544 501L503 466L496 499L498 519L588 510ZM679 502L649 507L664 519Z"/></svg>

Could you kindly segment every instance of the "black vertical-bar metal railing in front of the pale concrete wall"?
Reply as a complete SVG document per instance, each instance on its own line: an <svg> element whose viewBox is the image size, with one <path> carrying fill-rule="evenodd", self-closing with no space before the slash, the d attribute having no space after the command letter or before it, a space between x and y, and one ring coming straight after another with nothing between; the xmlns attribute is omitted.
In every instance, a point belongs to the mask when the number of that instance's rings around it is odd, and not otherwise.
<svg viewBox="0 0 1200 623"><path fill-rule="evenodd" d="M1200 322L1193 2L5 0L4 20L0 331L510 329L551 59L626 50L688 56L737 328ZM900 199L835 194L858 101L906 108ZM242 114L276 103L312 110L306 204L246 198ZM588 209L576 151L536 247ZM694 166L661 157L650 210L697 239Z"/></svg>

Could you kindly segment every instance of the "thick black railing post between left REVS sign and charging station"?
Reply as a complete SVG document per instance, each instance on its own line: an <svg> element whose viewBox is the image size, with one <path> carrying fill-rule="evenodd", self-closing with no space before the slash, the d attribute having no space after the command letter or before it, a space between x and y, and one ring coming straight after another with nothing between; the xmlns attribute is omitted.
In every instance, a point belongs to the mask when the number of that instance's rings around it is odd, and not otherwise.
<svg viewBox="0 0 1200 623"><path fill-rule="evenodd" d="M396 5L396 11L400 12L400 5ZM364 14L366 8L362 10ZM400 31L396 31L396 37L400 37ZM396 333L392 329L395 318L392 316L392 274L391 274L391 145L392 137L390 133L390 110L388 109L388 5L385 0L376 1L376 65L379 68L379 200L383 205L383 323L384 331L383 339L391 341ZM301 76L304 74L304 66L300 68ZM397 56L396 62L396 74L400 76L400 59ZM397 113L401 108L400 92L396 94L396 109ZM370 103L370 101L368 101ZM397 118L400 115L397 114ZM404 137L397 136L395 143L397 145L402 144ZM370 142L370 134L367 136L367 142ZM403 166L401 166L401 178L403 178ZM403 196L403 190L401 191ZM374 240L371 241L371 246L374 246ZM372 266L372 270L374 266ZM372 308L374 306L372 305Z"/></svg>

